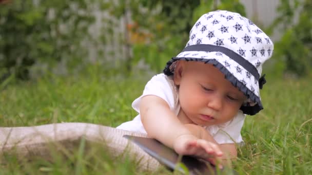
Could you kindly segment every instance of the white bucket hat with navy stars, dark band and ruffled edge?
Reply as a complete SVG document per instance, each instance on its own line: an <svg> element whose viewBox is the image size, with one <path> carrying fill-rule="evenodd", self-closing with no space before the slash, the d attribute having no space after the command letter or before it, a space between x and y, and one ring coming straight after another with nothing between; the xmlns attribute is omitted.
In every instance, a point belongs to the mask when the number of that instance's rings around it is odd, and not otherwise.
<svg viewBox="0 0 312 175"><path fill-rule="evenodd" d="M271 57L273 43L251 20L239 13L217 10L202 15L192 27L184 50L167 62L164 74L173 75L175 61L213 64L244 93L244 114L263 109L260 89L265 83L262 64Z"/></svg>

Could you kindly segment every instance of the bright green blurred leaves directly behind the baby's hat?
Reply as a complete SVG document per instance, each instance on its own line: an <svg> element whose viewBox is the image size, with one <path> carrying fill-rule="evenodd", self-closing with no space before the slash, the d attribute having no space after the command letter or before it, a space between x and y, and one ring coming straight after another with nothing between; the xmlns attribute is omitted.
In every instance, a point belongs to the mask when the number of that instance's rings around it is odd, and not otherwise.
<svg viewBox="0 0 312 175"><path fill-rule="evenodd" d="M150 31L149 42L136 42L133 45L133 64L144 60L154 71L160 72L171 57L185 47L189 31L196 20L213 10L230 10L246 16L244 6L239 0L200 0L200 1L141 1L149 11L159 8L155 15L135 13L133 20L139 29Z"/></svg>

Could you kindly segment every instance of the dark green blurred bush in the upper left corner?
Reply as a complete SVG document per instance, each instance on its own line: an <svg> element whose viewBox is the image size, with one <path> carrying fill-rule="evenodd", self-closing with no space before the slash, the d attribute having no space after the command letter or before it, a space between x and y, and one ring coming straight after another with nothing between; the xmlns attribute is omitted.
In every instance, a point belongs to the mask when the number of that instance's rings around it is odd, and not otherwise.
<svg viewBox="0 0 312 175"><path fill-rule="evenodd" d="M23 1L0 5L0 76L27 79L35 61L53 64L62 58L82 59L94 18L84 0Z"/></svg>

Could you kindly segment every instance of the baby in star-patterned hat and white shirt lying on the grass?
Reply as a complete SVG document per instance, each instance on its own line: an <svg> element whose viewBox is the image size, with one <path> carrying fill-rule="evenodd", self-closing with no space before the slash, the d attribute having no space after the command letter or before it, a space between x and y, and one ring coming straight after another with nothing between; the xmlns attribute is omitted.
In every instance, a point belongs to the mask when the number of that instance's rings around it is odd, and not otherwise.
<svg viewBox="0 0 312 175"><path fill-rule="evenodd" d="M146 84L119 129L145 133L212 164L237 158L245 114L263 109L262 64L272 41L249 19L229 11L201 16L184 50Z"/></svg>

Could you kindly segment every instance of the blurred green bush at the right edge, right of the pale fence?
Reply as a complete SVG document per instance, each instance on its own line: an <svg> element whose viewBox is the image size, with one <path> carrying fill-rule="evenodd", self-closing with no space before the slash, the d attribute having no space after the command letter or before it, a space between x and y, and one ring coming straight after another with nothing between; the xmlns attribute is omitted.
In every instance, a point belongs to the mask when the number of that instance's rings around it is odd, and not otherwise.
<svg viewBox="0 0 312 175"><path fill-rule="evenodd" d="M312 66L312 1L280 1L279 16L269 28L283 33L275 44L273 57L277 69L299 77L311 74Z"/></svg>

